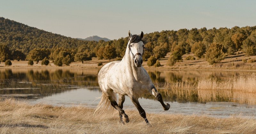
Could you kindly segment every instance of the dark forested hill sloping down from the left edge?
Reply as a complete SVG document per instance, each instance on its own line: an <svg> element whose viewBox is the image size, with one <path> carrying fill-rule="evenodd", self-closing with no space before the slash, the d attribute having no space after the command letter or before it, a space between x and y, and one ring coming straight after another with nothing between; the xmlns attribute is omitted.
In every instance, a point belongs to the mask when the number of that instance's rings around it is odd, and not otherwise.
<svg viewBox="0 0 256 134"><path fill-rule="evenodd" d="M95 46L97 42L83 41L0 17L0 44L6 44L11 50L20 50L25 54L34 48L64 47L77 49L80 45Z"/></svg>

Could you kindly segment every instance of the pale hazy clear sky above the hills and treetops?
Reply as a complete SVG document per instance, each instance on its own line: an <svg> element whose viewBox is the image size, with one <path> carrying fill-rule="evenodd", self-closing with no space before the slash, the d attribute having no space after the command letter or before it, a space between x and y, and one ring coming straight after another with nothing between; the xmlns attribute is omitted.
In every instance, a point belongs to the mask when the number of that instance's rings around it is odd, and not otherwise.
<svg viewBox="0 0 256 134"><path fill-rule="evenodd" d="M111 40L181 28L256 25L253 0L0 0L0 17L48 32Z"/></svg>

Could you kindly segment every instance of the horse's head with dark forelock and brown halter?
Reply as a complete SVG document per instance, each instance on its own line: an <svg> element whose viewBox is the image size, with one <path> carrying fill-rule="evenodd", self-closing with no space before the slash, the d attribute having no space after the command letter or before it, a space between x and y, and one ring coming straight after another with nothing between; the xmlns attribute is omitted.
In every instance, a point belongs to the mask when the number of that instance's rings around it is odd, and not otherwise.
<svg viewBox="0 0 256 134"><path fill-rule="evenodd" d="M129 30L129 53L136 67L141 67L143 62L142 55L144 52L144 44L146 43L146 40L142 39L143 35L142 31L140 35L132 35Z"/></svg>

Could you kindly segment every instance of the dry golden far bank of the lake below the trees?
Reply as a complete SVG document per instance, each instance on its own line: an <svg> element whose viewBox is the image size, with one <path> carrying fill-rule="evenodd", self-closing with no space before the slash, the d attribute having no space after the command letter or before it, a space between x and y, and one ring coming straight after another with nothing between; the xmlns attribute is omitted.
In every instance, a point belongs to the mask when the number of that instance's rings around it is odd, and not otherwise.
<svg viewBox="0 0 256 134"><path fill-rule="evenodd" d="M244 53L240 53L237 55L230 55L227 56L226 59L222 60L221 63L215 65L209 65L205 59L196 59L196 60L186 60L188 56L194 56L193 53L184 54L182 56L183 61L177 62L174 66L168 66L168 58L170 54L168 53L165 58L159 59L161 67L148 67L147 61L143 62L143 67L146 69L182 69L182 70L256 70L256 62L253 63L244 63L242 60L244 59L256 59L256 56L246 56ZM12 61L12 66L5 67L4 63L1 62L0 67L5 68L101 68L102 66L98 67L98 63L102 62L103 65L107 64L108 62L114 61L116 59L98 59L92 58L90 61L82 62L72 62L70 66L62 66L58 67L55 66L52 61L50 61L50 65L42 66L41 61L38 64L34 62L33 66L28 65L28 61Z"/></svg>

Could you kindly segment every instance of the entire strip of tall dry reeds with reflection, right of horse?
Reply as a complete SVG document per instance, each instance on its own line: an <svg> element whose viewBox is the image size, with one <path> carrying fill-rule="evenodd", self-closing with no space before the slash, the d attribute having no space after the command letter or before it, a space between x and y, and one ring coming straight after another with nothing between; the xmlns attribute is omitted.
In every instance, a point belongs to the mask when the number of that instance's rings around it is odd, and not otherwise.
<svg viewBox="0 0 256 134"><path fill-rule="evenodd" d="M161 89L166 97L185 98L182 100L201 103L228 101L256 105L256 74L238 75L228 80L201 78L195 84L189 81L165 82L158 86L158 89Z"/></svg>

